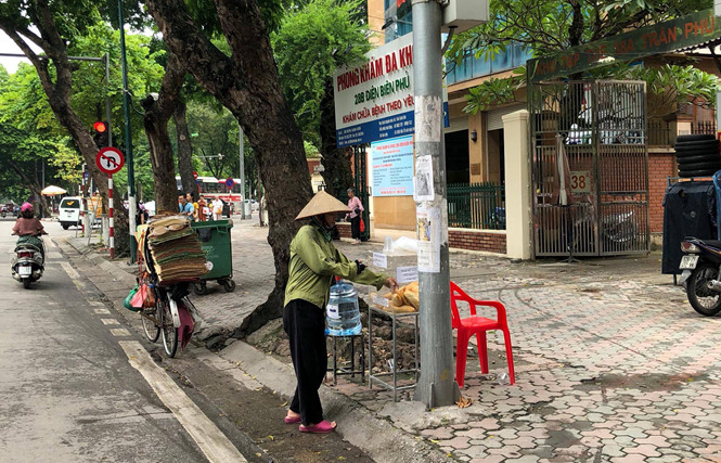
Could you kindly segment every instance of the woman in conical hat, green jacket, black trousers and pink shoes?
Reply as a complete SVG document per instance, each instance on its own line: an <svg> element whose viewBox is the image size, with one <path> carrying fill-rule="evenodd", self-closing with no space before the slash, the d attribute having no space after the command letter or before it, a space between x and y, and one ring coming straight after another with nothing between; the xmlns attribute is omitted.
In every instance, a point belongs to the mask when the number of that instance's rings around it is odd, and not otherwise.
<svg viewBox="0 0 721 463"><path fill-rule="evenodd" d="M302 208L296 220L310 219L291 242L288 283L285 287L283 327L291 342L291 357L298 381L285 423L300 423L302 433L330 433L335 422L323 420L318 395L325 370L325 306L331 281L340 276L356 283L371 284L379 290L398 286L395 279L375 273L356 260L348 260L331 242L331 229L339 214L348 207L335 197L319 191Z"/></svg>

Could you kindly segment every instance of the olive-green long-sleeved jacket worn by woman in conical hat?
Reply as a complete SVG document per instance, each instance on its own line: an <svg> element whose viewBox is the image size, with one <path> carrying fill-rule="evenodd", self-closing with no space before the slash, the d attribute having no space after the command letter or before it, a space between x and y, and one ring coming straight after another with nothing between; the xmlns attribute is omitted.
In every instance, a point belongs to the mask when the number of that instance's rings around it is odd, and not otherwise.
<svg viewBox="0 0 721 463"><path fill-rule="evenodd" d="M381 290L386 275L370 269L356 274L356 262L348 260L333 243L325 241L314 226L305 226L291 242L288 284L285 286L285 304L302 299L324 308L331 292L331 280L340 276L355 283L370 284Z"/></svg>

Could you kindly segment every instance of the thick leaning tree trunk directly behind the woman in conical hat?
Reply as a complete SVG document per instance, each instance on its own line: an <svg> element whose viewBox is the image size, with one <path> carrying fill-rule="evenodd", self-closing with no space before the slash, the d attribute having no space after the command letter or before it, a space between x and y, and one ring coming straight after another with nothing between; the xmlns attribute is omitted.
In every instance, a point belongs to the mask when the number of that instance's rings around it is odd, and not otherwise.
<svg viewBox="0 0 721 463"><path fill-rule="evenodd" d="M190 16L182 0L149 0L168 49L239 120L257 153L269 213L268 242L275 286L236 330L244 336L281 317L288 278L289 244L299 228L297 213L311 197L302 138L283 98L270 39L253 0L215 0L232 57L218 50Z"/></svg>

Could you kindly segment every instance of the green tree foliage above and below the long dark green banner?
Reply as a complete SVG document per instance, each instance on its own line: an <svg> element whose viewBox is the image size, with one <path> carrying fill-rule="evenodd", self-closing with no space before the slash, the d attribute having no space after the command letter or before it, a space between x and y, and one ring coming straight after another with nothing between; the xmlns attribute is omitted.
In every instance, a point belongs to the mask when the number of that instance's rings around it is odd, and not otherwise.
<svg viewBox="0 0 721 463"><path fill-rule="evenodd" d="M559 50L588 43L691 12L711 8L710 0L491 0L492 21L453 38L446 56L460 64L468 53L492 60L512 42L532 50L533 56L546 56ZM617 78L643 79L648 90L662 100L687 101L700 97L711 102L713 77L691 66L643 68L628 65L592 73L614 74ZM515 101L523 87L525 67L507 79L491 78L469 90L465 112L476 113L491 105Z"/></svg>

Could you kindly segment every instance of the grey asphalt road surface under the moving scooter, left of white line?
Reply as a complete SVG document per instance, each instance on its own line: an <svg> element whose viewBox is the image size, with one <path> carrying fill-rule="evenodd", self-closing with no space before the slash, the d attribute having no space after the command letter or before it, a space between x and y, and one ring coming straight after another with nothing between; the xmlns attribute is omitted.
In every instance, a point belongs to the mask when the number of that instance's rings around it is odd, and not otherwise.
<svg viewBox="0 0 721 463"><path fill-rule="evenodd" d="M13 222L0 221L5 262ZM44 223L51 236L75 234ZM46 273L30 290L10 276L8 265L0 275L2 461L206 461L130 364L126 351L138 346L137 336L99 301L94 286L70 279L68 272L77 274L51 240L46 244Z"/></svg>

